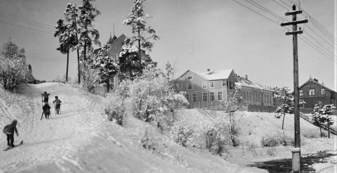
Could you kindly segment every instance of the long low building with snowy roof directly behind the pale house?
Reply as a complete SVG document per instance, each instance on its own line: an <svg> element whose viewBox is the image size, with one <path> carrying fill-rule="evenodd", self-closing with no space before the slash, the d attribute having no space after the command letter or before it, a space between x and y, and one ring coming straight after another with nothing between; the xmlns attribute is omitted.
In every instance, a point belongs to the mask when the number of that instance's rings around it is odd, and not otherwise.
<svg viewBox="0 0 337 173"><path fill-rule="evenodd" d="M238 76L237 79L236 90L241 93L244 105L273 106L273 91L271 89L248 80L247 75L245 78Z"/></svg>

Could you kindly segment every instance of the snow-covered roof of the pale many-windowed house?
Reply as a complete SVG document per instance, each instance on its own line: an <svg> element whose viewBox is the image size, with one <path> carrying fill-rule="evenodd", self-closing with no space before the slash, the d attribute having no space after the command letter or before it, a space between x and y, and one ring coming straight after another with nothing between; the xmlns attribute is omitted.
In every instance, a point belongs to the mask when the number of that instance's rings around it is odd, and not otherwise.
<svg viewBox="0 0 337 173"><path fill-rule="evenodd" d="M185 73L183 73L181 76L179 76L177 79L180 79L183 77L188 71L192 71L196 75L208 80L208 81L214 81L214 80L222 80L222 79L228 79L229 75L231 75L232 71L234 73L233 68L230 69L223 69L223 70L214 70L214 71L204 71L204 72L199 72L195 70L188 69ZM236 76L234 75L234 78Z"/></svg>

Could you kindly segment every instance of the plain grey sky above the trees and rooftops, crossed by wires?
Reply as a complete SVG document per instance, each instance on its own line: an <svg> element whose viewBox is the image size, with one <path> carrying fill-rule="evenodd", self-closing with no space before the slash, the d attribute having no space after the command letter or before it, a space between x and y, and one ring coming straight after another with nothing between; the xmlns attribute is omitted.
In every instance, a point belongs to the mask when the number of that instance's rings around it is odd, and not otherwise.
<svg viewBox="0 0 337 173"><path fill-rule="evenodd" d="M175 76L188 69L233 68L237 75L248 75L253 82L293 89L293 39L292 35L285 35L287 28L278 24L282 22L280 17L292 20L291 16L284 15L291 10L292 0L236 1L146 0L145 13L153 16L147 24L160 37L149 53L152 60L162 69L170 61L175 65ZM295 1L306 11L298 15L299 19L311 16L306 25L298 25L304 29L298 39L300 85L311 75L334 89L335 1ZM66 55L56 50L59 43L53 33L56 21L63 17L69 2L76 6L82 4L81 0L0 0L0 44L11 37L17 46L25 48L36 79L52 80L65 75ZM131 11L132 0L98 0L93 4L101 12L93 24L102 44L108 41L110 32L113 35L113 23L117 37L132 35L131 27L122 24ZM75 52L70 57L69 76L76 78Z"/></svg>

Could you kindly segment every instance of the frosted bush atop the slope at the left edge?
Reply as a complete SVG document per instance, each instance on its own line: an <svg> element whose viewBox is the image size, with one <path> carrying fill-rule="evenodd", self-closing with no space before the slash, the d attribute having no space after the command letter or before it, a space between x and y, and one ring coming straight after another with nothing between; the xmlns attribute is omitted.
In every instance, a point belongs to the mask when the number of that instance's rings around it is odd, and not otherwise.
<svg viewBox="0 0 337 173"><path fill-rule="evenodd" d="M0 55L0 84L4 89L18 92L34 78L26 64L25 50L20 49L10 39L2 46Z"/></svg>

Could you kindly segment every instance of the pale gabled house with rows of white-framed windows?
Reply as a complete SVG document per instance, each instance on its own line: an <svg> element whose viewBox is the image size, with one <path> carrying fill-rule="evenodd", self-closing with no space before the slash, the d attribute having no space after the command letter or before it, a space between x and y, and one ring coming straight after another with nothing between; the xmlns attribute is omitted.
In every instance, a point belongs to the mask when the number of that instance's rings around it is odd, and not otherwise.
<svg viewBox="0 0 337 173"><path fill-rule="evenodd" d="M227 92L235 89L237 77L234 70L223 69L204 72L187 70L175 79L178 91L185 91L185 97L190 103L213 103L227 99Z"/></svg>

